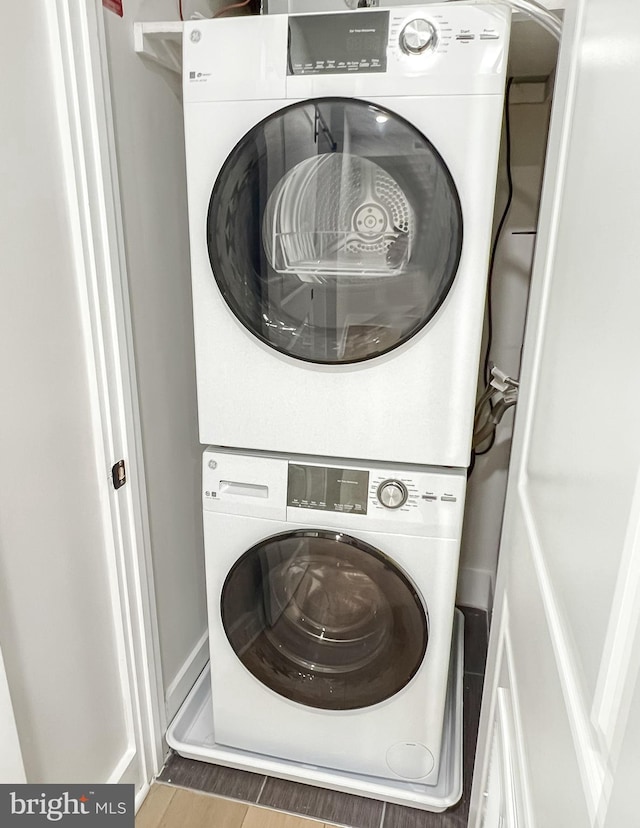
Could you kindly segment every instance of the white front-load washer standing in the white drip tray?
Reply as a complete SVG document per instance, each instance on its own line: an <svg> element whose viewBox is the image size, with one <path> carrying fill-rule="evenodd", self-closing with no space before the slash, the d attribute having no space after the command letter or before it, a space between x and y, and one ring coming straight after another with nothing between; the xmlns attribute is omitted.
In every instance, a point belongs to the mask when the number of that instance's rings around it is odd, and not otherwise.
<svg viewBox="0 0 640 828"><path fill-rule="evenodd" d="M435 785L464 472L207 449L203 484L215 743Z"/></svg>

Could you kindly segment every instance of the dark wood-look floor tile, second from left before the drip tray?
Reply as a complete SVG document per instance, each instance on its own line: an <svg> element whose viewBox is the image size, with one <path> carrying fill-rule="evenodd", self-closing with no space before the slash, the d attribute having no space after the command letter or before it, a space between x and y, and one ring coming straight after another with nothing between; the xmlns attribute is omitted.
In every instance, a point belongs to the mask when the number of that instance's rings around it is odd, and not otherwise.
<svg viewBox="0 0 640 828"><path fill-rule="evenodd" d="M267 778L259 804L352 828L379 828L383 808L374 799L272 778Z"/></svg>

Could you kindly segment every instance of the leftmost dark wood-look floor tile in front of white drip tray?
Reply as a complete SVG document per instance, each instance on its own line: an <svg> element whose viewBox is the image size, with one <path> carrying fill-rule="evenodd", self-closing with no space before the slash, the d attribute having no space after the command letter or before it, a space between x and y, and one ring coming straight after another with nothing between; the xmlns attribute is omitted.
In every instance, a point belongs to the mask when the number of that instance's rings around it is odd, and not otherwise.
<svg viewBox="0 0 640 828"><path fill-rule="evenodd" d="M241 799L243 802L257 800L264 779L264 776L257 773L211 765L208 762L195 762L177 754L171 756L158 777L160 782Z"/></svg>

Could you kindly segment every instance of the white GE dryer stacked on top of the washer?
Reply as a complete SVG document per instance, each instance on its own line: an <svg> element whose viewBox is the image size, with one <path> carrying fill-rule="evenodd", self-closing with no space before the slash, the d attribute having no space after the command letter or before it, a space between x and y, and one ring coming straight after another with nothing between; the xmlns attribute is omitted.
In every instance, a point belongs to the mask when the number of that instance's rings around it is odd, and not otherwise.
<svg viewBox="0 0 640 828"><path fill-rule="evenodd" d="M203 443L468 465L508 15L185 24Z"/></svg>

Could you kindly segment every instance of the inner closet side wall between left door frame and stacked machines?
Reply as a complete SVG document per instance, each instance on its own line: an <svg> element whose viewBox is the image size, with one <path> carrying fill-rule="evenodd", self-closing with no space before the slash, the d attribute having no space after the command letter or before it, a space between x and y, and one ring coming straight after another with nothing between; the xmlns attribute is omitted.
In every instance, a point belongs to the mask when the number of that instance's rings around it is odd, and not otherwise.
<svg viewBox="0 0 640 828"><path fill-rule="evenodd" d="M133 21L175 0L105 11L126 265L149 502L160 655L171 718L206 660L191 277L178 76L133 51ZM185 3L185 11L191 9ZM179 84L179 81L178 81Z"/></svg>

